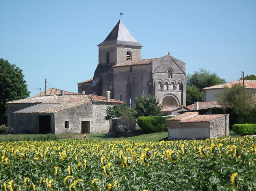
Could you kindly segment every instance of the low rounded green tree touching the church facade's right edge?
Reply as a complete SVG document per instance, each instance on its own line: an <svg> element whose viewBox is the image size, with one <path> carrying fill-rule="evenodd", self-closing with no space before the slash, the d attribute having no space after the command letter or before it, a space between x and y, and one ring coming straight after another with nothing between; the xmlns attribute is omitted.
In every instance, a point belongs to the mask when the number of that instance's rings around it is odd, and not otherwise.
<svg viewBox="0 0 256 191"><path fill-rule="evenodd" d="M187 86L187 106L202 101L204 101L204 93L195 85Z"/></svg>

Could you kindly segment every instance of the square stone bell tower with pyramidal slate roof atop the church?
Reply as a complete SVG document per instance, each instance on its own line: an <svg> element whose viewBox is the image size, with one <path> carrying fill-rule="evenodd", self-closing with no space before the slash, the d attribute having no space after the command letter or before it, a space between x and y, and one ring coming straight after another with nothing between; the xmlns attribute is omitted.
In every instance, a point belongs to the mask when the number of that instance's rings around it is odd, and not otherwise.
<svg viewBox="0 0 256 191"><path fill-rule="evenodd" d="M115 65L126 60L141 60L141 47L121 20L98 45L99 65Z"/></svg>

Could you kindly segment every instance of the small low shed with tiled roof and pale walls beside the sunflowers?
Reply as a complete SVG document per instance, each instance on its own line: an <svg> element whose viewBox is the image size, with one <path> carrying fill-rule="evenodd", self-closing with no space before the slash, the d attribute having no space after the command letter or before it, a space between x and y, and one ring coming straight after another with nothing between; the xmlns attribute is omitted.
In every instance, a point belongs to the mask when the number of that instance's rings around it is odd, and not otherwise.
<svg viewBox="0 0 256 191"><path fill-rule="evenodd" d="M228 136L228 115L198 115L198 112L187 112L168 121L169 140L206 139Z"/></svg>

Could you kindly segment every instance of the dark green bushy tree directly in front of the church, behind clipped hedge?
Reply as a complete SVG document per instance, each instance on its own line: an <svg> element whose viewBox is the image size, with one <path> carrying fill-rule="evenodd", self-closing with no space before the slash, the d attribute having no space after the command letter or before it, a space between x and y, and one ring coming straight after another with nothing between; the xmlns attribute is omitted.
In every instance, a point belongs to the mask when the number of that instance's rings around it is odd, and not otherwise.
<svg viewBox="0 0 256 191"><path fill-rule="evenodd" d="M155 116L160 115L161 107L158 107L158 100L155 96L140 95L135 97L135 110L137 112L136 116Z"/></svg>

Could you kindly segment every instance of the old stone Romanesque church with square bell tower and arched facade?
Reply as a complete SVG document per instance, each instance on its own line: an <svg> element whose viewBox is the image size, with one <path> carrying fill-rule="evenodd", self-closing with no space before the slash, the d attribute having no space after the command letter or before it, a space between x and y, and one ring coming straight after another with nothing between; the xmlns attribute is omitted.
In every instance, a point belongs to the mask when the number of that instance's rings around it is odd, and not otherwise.
<svg viewBox="0 0 256 191"><path fill-rule="evenodd" d="M141 59L141 47L121 20L98 45L98 65L93 78L78 83L78 93L135 104L139 95L153 95L159 105L186 106L186 64L168 53Z"/></svg>

